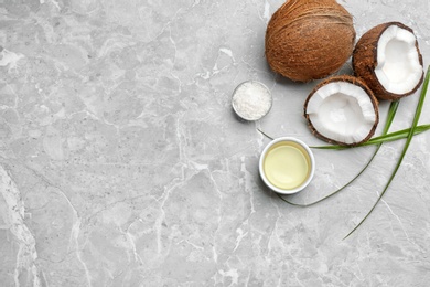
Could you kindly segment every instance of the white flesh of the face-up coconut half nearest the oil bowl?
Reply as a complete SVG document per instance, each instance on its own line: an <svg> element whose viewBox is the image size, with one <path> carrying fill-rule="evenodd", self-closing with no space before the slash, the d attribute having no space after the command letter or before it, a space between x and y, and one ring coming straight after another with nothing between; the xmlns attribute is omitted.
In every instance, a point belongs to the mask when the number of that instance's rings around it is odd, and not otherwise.
<svg viewBox="0 0 430 287"><path fill-rule="evenodd" d="M308 102L307 114L320 135L347 145L363 141L377 120L366 91L347 82L319 88Z"/></svg>

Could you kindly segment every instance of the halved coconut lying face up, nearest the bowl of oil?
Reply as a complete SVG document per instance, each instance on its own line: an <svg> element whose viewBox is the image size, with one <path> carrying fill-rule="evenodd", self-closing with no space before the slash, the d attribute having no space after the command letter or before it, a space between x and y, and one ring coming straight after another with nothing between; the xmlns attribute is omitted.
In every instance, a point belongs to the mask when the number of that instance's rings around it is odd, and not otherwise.
<svg viewBox="0 0 430 287"><path fill-rule="evenodd" d="M343 146L367 141L379 123L378 100L359 78L344 75L321 82L304 102L304 117L316 137Z"/></svg>

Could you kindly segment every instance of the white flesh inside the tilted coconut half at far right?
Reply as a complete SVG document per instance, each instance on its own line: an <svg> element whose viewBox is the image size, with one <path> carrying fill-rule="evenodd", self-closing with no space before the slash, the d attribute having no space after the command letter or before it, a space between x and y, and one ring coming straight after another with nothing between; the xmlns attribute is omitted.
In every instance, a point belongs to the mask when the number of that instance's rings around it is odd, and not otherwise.
<svg viewBox="0 0 430 287"><path fill-rule="evenodd" d="M420 82L422 66L413 33L390 25L378 40L376 77L387 92L406 94Z"/></svg>

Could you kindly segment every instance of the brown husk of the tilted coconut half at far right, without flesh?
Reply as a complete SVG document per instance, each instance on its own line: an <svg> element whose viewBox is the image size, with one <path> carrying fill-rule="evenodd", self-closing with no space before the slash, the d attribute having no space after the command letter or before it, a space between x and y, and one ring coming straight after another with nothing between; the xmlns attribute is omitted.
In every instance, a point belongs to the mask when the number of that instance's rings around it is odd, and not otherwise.
<svg viewBox="0 0 430 287"><path fill-rule="evenodd" d="M400 23L400 22L387 22L379 24L369 31L367 31L363 36L358 40L355 45L353 52L353 68L355 76L363 78L367 86L374 92L375 96L379 99L388 99L396 100L406 96L413 94L419 86L422 84L424 73L422 72L422 76L418 85L408 93L405 94L394 94L385 89L385 87L379 83L375 68L378 65L377 62L377 47L380 35L391 25L397 25L401 29L405 29L411 33L413 33L412 29ZM416 41L415 46L417 47L417 53L419 57L419 63L422 66L422 55L418 46L418 41Z"/></svg>

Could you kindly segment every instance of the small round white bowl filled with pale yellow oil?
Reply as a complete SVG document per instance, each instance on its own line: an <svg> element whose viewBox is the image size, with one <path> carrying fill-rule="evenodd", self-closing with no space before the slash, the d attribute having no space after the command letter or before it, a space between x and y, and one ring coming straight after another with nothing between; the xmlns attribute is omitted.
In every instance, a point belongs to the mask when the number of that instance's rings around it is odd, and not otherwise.
<svg viewBox="0 0 430 287"><path fill-rule="evenodd" d="M311 182L315 172L315 159L303 141L291 137L277 138L262 150L259 172L272 191L292 194Z"/></svg>

